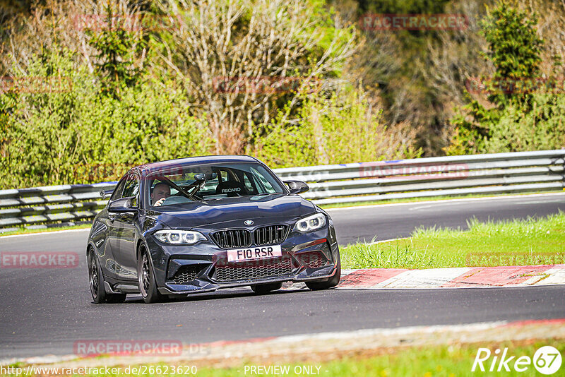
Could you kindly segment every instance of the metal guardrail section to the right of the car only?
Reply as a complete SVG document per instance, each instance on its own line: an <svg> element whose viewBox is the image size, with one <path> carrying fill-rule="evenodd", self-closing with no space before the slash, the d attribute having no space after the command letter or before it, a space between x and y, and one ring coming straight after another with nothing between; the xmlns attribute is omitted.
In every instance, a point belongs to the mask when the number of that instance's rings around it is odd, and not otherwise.
<svg viewBox="0 0 565 377"><path fill-rule="evenodd" d="M316 204L563 190L565 150L429 157L277 169L309 183Z"/></svg>

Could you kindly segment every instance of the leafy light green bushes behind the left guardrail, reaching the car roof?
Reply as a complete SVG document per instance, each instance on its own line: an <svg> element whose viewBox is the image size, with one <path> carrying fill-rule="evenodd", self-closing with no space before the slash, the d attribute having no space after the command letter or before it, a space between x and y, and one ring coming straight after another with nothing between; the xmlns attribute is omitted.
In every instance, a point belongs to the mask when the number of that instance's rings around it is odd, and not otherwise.
<svg viewBox="0 0 565 377"><path fill-rule="evenodd" d="M71 85L0 94L2 188L110 181L136 164L210 152L207 125L189 114L179 84L140 78L117 98L66 49L31 60L19 76Z"/></svg>

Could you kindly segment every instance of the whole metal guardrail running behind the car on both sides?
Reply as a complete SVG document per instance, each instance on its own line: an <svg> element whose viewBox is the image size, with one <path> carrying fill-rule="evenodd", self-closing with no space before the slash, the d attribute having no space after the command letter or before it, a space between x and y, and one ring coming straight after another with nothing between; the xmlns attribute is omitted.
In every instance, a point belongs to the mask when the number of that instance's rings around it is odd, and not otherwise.
<svg viewBox="0 0 565 377"><path fill-rule="evenodd" d="M562 191L565 149L291 167L275 169L275 173L283 180L307 181L310 190L302 196L319 205L470 193ZM107 203L100 200L99 191L110 190L115 184L0 190L0 232L22 225L44 227L90 220Z"/></svg>

